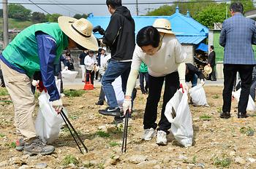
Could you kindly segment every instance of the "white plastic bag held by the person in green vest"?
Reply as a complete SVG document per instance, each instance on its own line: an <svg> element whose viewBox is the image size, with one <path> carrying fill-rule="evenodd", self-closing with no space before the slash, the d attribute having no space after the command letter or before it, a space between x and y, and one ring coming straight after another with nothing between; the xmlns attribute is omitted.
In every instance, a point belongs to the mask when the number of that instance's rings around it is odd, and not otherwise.
<svg viewBox="0 0 256 169"><path fill-rule="evenodd" d="M36 133L43 141L51 143L58 138L61 130L63 119L53 109L52 102L49 101L50 96L43 91L39 95L39 110L35 121ZM63 109L65 114L67 111Z"/></svg>

